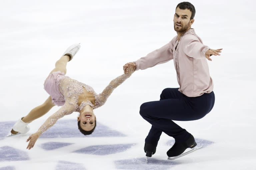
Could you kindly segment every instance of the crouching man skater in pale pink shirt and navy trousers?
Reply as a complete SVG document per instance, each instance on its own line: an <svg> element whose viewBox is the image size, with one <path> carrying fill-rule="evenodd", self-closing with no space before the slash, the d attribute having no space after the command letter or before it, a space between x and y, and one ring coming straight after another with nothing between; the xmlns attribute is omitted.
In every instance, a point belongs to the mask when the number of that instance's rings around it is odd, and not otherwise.
<svg viewBox="0 0 256 170"><path fill-rule="evenodd" d="M166 88L160 101L143 103L140 115L152 127L145 139L144 151L151 157L162 132L175 139L167 151L169 157L182 154L186 148L196 146L195 139L187 130L174 121L193 121L203 118L214 105L213 80L209 74L207 60L211 55L220 55L222 49L210 49L196 35L191 25L194 23L195 7L189 2L177 5L174 14L174 30L177 32L171 42L149 53L135 62L123 66L124 72L143 70L157 64L174 61L179 88Z"/></svg>

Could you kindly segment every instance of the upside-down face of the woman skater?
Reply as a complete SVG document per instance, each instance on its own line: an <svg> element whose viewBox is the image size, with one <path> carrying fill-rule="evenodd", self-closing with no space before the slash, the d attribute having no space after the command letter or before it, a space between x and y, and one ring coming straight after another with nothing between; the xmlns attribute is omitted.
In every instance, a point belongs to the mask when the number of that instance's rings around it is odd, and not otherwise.
<svg viewBox="0 0 256 170"><path fill-rule="evenodd" d="M83 130L90 131L95 126L95 119L93 112L82 112L77 121L80 121L80 126Z"/></svg>

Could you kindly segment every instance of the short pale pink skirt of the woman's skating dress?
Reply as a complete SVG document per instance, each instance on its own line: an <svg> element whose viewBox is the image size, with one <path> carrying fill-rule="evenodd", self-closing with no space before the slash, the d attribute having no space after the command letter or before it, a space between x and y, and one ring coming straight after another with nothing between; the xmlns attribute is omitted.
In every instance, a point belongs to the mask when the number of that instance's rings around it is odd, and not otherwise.
<svg viewBox="0 0 256 170"><path fill-rule="evenodd" d="M57 106L63 106L65 104L65 98L59 91L60 79L64 76L64 73L60 71L52 72L44 81L45 91L51 96L52 103Z"/></svg>

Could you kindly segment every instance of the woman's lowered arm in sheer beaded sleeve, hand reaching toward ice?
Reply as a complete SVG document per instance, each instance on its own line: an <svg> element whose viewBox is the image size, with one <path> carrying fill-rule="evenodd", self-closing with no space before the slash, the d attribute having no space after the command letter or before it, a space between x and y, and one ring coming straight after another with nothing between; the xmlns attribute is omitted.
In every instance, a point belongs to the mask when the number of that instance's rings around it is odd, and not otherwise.
<svg viewBox="0 0 256 170"><path fill-rule="evenodd" d="M51 128L57 122L57 120L76 111L76 105L72 105L70 103L72 102L66 101L66 103L57 112L55 112L45 121L45 123L37 130L37 132L29 136L27 139L27 142L29 141L27 149L34 147L35 142L39 136L41 136L42 133L44 133L47 129Z"/></svg>

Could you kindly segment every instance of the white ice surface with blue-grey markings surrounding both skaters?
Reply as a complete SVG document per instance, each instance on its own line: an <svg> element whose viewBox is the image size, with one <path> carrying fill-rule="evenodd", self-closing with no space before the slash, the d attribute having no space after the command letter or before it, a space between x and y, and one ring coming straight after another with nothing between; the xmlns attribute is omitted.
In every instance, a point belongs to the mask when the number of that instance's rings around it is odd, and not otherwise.
<svg viewBox="0 0 256 170"><path fill-rule="evenodd" d="M58 107L6 138L14 122L42 104L43 82L65 49L81 42L67 76L100 93L135 61L176 35L171 0L1 0L0 170L253 170L256 169L256 12L254 0L191 0L192 28L204 44L223 48L208 61L215 106L203 119L178 122L202 149L167 160L173 138L162 134L146 164L144 139L150 129L139 115L144 102L159 100L164 88L178 87L173 60L136 71L94 111L95 134L77 130L73 113L27 150L26 139ZM156 113L157 114L157 113Z"/></svg>

